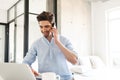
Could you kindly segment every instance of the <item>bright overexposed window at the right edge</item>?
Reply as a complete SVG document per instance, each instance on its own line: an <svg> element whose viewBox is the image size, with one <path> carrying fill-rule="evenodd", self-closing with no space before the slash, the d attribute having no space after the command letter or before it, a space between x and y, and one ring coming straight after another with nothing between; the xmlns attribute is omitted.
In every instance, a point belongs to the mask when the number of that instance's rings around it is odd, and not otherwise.
<svg viewBox="0 0 120 80"><path fill-rule="evenodd" d="M120 66L120 8L107 11L108 44L110 61L113 66Z"/></svg>

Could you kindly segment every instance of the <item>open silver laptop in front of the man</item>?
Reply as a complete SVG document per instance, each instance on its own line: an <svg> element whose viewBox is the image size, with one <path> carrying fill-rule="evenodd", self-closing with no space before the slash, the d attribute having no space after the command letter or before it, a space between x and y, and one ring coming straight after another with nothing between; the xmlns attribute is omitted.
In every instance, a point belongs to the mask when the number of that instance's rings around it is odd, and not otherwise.
<svg viewBox="0 0 120 80"><path fill-rule="evenodd" d="M1 80L36 80L27 64L0 63Z"/></svg>

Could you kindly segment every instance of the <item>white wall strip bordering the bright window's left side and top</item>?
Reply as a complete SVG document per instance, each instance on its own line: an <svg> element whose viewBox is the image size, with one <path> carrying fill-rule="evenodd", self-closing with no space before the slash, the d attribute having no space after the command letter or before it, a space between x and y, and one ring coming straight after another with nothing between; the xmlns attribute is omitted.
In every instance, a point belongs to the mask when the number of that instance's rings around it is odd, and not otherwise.
<svg viewBox="0 0 120 80"><path fill-rule="evenodd" d="M105 11L115 7L120 7L120 0L92 3L92 52L105 63L109 61Z"/></svg>

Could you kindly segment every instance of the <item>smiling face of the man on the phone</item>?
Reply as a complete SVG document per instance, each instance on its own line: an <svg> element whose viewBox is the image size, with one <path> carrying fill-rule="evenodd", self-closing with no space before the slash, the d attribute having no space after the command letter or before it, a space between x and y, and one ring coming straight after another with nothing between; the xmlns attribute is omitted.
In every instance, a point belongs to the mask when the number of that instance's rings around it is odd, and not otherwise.
<svg viewBox="0 0 120 80"><path fill-rule="evenodd" d="M47 38L48 36L50 36L50 30L52 28L52 25L49 21L40 21L39 22L40 25L40 30L41 33Z"/></svg>

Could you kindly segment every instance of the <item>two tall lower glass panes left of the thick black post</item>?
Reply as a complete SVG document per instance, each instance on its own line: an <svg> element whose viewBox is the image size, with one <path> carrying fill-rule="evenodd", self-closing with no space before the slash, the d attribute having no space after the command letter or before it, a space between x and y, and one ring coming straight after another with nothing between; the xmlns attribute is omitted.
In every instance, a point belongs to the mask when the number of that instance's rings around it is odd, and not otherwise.
<svg viewBox="0 0 120 80"><path fill-rule="evenodd" d="M24 49L24 16L10 23L9 28L9 62L20 63L23 59Z"/></svg>

